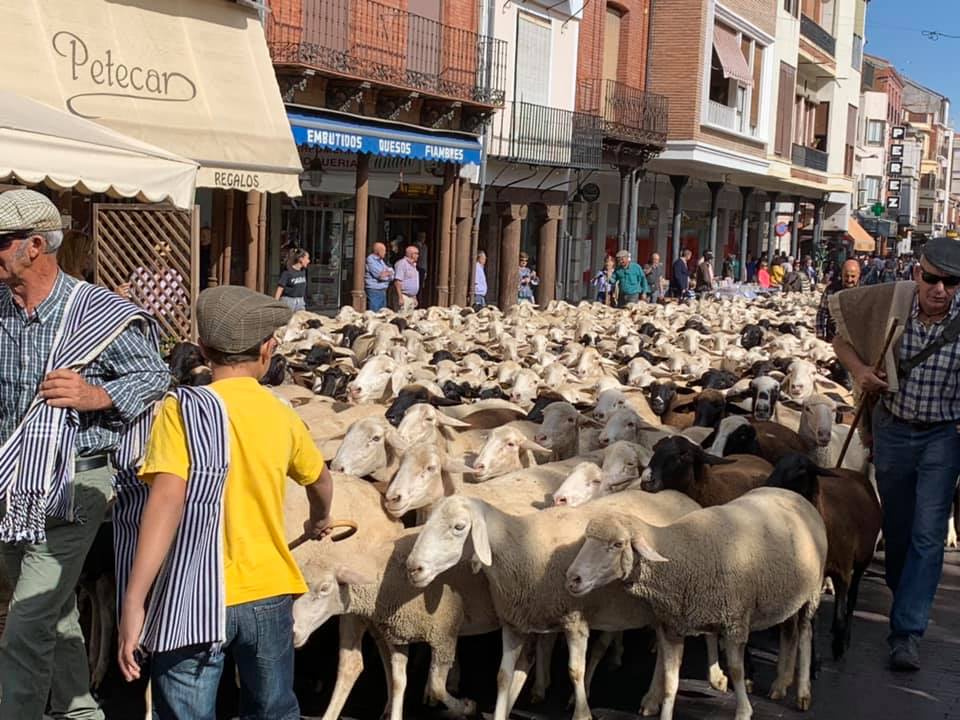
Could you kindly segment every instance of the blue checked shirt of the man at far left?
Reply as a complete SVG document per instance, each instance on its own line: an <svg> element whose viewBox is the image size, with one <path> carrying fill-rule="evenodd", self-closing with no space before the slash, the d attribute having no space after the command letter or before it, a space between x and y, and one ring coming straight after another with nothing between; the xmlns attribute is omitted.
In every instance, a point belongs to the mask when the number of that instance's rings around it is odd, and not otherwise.
<svg viewBox="0 0 960 720"><path fill-rule="evenodd" d="M13 434L37 394L64 303L77 282L59 273L50 294L29 316L0 286L0 443ZM80 414L78 455L114 449L120 430L170 385L169 370L136 327L124 330L82 375L107 391L114 409Z"/></svg>

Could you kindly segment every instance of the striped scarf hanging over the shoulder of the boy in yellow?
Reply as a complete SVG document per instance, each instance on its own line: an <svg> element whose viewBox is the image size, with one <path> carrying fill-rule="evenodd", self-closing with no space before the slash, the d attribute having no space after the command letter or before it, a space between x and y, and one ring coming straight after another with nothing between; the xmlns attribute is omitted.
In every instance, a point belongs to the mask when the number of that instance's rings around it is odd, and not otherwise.
<svg viewBox="0 0 960 720"><path fill-rule="evenodd" d="M223 490L230 464L227 411L205 387L178 387L190 472L183 518L150 593L141 645L167 652L226 640L223 570ZM118 478L113 510L117 598L123 598L149 488L136 476Z"/></svg>

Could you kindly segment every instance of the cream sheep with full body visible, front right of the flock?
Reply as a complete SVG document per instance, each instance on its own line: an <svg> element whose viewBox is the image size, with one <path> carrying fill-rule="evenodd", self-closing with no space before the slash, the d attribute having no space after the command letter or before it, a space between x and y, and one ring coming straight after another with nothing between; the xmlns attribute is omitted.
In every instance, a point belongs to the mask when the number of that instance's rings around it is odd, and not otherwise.
<svg viewBox="0 0 960 720"><path fill-rule="evenodd" d="M719 629L736 717L749 720L744 648L752 630L775 625L782 624L781 645L770 697L783 698L796 673L797 707L810 707L812 621L826 555L826 529L813 505L789 490L759 488L666 527L629 510L595 515L567 571L567 589L588 598L615 583L652 610L663 674L655 675L648 699L662 700L661 720L673 717L684 637Z"/></svg>

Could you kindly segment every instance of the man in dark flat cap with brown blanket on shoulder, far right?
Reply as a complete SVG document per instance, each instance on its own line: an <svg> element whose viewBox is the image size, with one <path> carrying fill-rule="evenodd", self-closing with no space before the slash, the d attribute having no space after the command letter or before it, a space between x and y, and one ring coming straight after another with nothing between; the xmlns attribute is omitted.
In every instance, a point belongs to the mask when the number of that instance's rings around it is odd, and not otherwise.
<svg viewBox="0 0 960 720"><path fill-rule="evenodd" d="M883 503L886 580L893 592L890 665L920 669L919 639L943 570L960 475L960 242L934 238L913 281L830 297L833 347L861 392L879 396L873 461ZM886 338L893 342L874 371Z"/></svg>

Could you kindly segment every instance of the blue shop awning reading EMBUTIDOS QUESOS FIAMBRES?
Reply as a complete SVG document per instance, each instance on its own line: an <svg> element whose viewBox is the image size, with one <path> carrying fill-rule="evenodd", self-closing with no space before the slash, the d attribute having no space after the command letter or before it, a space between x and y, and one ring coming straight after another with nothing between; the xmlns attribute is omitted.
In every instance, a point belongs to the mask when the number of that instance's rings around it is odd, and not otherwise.
<svg viewBox="0 0 960 720"><path fill-rule="evenodd" d="M433 132L346 115L290 112L288 117L297 145L461 165L480 164L480 139L466 133Z"/></svg>

